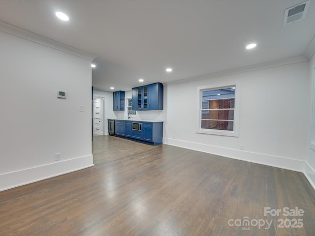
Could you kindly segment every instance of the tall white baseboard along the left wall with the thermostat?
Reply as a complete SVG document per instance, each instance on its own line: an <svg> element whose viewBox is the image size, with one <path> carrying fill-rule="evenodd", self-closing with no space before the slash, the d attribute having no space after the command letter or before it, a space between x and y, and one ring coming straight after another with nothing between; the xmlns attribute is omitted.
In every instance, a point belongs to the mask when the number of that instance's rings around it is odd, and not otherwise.
<svg viewBox="0 0 315 236"><path fill-rule="evenodd" d="M93 155L58 161L0 175L0 191L94 166Z"/></svg>

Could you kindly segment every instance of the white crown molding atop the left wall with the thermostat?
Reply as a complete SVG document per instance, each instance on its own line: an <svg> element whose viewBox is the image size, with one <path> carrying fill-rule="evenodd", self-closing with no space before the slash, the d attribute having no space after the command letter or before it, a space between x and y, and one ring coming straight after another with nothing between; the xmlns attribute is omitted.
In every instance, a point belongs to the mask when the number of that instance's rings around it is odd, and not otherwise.
<svg viewBox="0 0 315 236"><path fill-rule="evenodd" d="M65 53L80 57L80 58L84 58L84 59L88 59L88 60L93 60L95 59L95 55L83 52L81 50L78 50L76 48L72 48L70 46L67 46L65 44L62 44L60 42L54 41L52 39L40 36L38 34L29 32L27 30L24 29L20 29L17 28L15 26L11 26L9 24L6 24L4 22L0 22L0 31L20 37L20 38L24 38L26 40L32 41L34 43L38 43L50 48L54 48L56 50L59 51L63 51Z"/></svg>

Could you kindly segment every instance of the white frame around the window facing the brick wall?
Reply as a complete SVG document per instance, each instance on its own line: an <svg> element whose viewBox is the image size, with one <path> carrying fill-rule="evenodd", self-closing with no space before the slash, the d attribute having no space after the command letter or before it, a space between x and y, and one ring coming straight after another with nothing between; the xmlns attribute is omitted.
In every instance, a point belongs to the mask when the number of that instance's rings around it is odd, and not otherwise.
<svg viewBox="0 0 315 236"><path fill-rule="evenodd" d="M230 130L218 130L218 129L202 129L201 128L201 110L202 110L202 91L204 90L215 90L215 89L224 89L235 87L235 100L234 100L234 124L233 131ZM222 86L202 86L197 88L198 94L198 111L197 111L197 130L196 133L201 134L212 134L212 135L223 135L223 136L232 136L239 137L240 133L240 125L239 125L239 117L240 117L240 86L238 83L234 83L231 85L222 85Z"/></svg>

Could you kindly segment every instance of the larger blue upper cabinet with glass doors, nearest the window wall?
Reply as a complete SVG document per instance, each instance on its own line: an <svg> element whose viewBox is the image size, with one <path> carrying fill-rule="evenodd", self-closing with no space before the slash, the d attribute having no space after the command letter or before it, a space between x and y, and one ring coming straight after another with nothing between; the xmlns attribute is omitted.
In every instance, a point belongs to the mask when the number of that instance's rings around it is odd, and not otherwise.
<svg viewBox="0 0 315 236"><path fill-rule="evenodd" d="M163 85L155 83L133 88L132 110L163 110Z"/></svg>

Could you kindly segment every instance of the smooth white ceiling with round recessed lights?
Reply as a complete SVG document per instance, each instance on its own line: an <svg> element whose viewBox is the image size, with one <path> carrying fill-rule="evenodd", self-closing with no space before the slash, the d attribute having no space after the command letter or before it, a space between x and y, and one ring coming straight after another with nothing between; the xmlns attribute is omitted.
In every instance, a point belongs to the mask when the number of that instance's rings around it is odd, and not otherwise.
<svg viewBox="0 0 315 236"><path fill-rule="evenodd" d="M95 55L95 89L131 90L140 78L168 83L305 55L315 2L304 20L283 26L284 10L301 2L0 0L0 21Z"/></svg>

